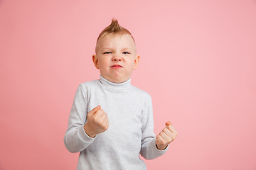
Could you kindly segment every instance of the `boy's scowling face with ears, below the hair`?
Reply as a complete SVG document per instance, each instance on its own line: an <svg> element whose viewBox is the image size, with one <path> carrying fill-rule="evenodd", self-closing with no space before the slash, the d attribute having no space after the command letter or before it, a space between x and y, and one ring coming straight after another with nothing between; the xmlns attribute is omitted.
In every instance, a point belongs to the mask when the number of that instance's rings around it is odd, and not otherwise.
<svg viewBox="0 0 256 170"><path fill-rule="evenodd" d="M131 35L107 34L97 42L96 55L92 60L100 74L114 83L127 81L139 63L136 47Z"/></svg>

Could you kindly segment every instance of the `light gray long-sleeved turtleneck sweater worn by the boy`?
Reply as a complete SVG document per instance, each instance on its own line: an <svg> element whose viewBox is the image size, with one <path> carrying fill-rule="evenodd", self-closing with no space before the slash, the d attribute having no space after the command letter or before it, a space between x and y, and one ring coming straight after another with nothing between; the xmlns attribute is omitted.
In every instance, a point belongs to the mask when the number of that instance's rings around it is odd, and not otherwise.
<svg viewBox="0 0 256 170"><path fill-rule="evenodd" d="M110 126L91 138L83 129L87 113L101 105ZM78 86L70 111L65 147L80 152L77 169L146 169L145 159L166 152L156 148L151 96L131 85L114 84L100 76Z"/></svg>

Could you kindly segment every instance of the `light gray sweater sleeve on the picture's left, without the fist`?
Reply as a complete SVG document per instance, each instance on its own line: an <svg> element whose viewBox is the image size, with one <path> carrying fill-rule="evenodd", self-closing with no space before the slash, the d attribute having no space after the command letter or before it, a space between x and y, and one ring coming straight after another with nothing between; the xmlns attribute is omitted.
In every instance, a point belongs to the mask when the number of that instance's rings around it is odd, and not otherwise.
<svg viewBox="0 0 256 170"><path fill-rule="evenodd" d="M64 136L64 144L69 152L81 152L95 140L95 137L89 137L83 128L86 117L87 98L82 86L79 85L68 119L68 130Z"/></svg>

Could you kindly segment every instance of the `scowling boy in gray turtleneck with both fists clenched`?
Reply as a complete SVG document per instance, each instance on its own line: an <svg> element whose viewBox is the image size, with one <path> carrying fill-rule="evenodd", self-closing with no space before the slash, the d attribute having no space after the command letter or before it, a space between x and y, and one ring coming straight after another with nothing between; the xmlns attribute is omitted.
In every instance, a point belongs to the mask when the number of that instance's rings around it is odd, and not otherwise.
<svg viewBox="0 0 256 170"><path fill-rule="evenodd" d="M80 152L77 169L146 169L177 132L170 122L154 135L151 96L131 85L139 63L131 33L112 19L100 33L92 61L100 79L78 86L70 111L65 147Z"/></svg>

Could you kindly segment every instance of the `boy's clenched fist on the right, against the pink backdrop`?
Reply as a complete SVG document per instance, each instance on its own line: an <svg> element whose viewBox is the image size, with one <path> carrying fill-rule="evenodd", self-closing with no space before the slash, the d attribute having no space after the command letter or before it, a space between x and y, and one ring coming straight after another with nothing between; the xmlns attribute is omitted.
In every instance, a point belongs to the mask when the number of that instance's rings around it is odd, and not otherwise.
<svg viewBox="0 0 256 170"><path fill-rule="evenodd" d="M174 126L171 122L166 122L166 128L164 128L159 135L156 136L156 147L159 150L164 150L166 147L175 140L178 135L177 131L174 129Z"/></svg>

